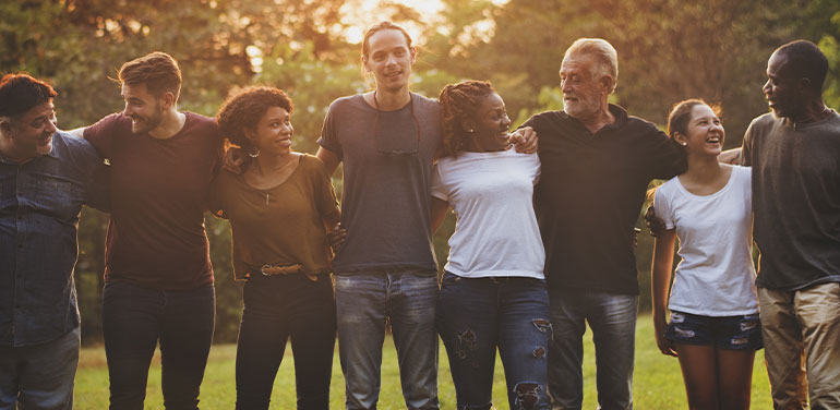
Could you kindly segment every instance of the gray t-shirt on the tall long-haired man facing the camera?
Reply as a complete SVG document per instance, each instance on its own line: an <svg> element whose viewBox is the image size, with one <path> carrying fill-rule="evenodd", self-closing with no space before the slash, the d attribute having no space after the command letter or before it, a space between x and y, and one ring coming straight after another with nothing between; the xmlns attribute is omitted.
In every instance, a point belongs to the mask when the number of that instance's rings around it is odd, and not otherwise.
<svg viewBox="0 0 840 410"><path fill-rule="evenodd" d="M317 143L344 161L347 229L335 273L436 268L429 201L440 117L437 101L417 94L406 107L379 116L362 95L329 106Z"/></svg>

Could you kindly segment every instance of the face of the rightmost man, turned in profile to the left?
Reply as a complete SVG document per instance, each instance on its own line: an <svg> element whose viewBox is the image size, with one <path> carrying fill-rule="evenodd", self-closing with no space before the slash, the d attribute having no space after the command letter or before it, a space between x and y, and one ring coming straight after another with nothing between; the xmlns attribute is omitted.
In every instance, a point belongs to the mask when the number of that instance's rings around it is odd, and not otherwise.
<svg viewBox="0 0 840 410"><path fill-rule="evenodd" d="M797 118L805 107L800 79L793 75L788 56L773 52L767 61L767 82L763 89L777 118Z"/></svg>

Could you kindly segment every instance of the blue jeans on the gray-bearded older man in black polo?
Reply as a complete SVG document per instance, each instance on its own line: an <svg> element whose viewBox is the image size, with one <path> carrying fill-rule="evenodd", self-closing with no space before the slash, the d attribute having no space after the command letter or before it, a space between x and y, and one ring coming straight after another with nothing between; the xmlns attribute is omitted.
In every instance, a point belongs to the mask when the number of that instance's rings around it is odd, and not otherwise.
<svg viewBox="0 0 840 410"><path fill-rule="evenodd" d="M637 294L550 290L549 398L552 409L580 409L584 402L583 337L595 341L596 384L601 409L633 408L633 360Z"/></svg>

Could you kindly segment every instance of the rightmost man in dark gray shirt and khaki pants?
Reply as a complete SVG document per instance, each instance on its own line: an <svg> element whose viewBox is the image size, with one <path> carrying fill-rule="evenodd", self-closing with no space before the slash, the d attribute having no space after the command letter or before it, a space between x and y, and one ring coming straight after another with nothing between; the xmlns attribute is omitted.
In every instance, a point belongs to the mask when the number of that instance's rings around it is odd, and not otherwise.
<svg viewBox="0 0 840 410"><path fill-rule="evenodd" d="M826 57L811 41L767 63L771 113L753 120L756 286L778 409L840 409L840 116L823 102Z"/></svg>

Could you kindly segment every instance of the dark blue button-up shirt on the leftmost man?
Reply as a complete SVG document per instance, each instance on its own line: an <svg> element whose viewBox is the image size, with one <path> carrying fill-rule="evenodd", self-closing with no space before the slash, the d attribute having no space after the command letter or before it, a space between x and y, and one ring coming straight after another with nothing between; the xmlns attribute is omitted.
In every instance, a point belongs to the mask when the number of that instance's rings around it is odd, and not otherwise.
<svg viewBox="0 0 840 410"><path fill-rule="evenodd" d="M103 160L85 140L52 135L50 154L0 155L0 346L53 340L79 326L73 268L82 205L107 208Z"/></svg>

